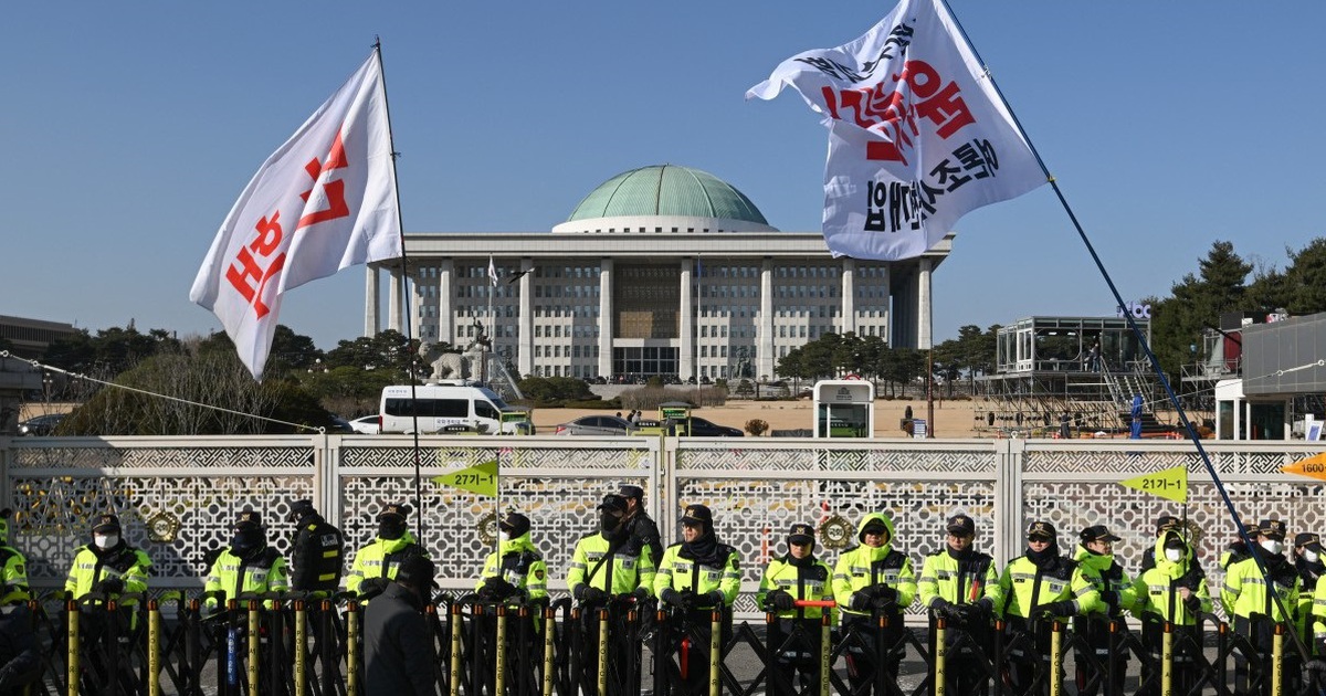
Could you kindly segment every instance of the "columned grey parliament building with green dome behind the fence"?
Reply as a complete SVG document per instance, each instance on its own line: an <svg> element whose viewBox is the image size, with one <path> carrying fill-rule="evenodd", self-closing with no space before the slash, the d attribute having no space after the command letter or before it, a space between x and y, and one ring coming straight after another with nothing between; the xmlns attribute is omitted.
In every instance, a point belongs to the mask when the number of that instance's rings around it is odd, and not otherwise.
<svg viewBox="0 0 1326 696"><path fill-rule="evenodd" d="M835 259L819 232L778 231L711 174L643 167L552 231L407 233L408 268L369 266L363 329L457 347L484 331L532 377L772 379L778 358L826 333L928 349L931 276L951 244Z"/></svg>

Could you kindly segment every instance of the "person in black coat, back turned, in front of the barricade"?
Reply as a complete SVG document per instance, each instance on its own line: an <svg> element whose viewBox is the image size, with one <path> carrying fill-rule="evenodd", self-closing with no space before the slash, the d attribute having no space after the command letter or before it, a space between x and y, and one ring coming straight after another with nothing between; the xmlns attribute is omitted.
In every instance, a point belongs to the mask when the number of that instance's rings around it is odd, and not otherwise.
<svg viewBox="0 0 1326 696"><path fill-rule="evenodd" d="M432 561L411 555L396 579L369 603L363 616L365 684L369 696L438 693L432 634L423 607L436 587Z"/></svg>

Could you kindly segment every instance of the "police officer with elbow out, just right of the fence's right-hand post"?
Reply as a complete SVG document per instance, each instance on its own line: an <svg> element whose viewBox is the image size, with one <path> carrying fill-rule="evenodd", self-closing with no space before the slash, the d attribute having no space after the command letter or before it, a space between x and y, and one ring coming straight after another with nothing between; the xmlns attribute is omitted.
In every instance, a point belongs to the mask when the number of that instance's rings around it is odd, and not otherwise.
<svg viewBox="0 0 1326 696"><path fill-rule="evenodd" d="M1062 620L1099 602L1095 586L1077 561L1059 553L1058 532L1048 521L1026 528L1026 553L1012 559L998 577L1004 593L1002 614L1009 640L1005 643L1008 683L1016 695L1030 692L1037 666L1050 662L1050 628L1045 619ZM1041 684L1049 692L1050 680Z"/></svg>

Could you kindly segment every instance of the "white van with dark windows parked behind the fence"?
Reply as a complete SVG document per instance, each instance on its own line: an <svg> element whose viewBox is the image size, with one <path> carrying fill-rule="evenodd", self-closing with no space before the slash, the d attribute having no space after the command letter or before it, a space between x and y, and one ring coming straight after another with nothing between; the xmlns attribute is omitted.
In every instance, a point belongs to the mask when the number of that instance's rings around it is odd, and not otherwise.
<svg viewBox="0 0 1326 696"><path fill-rule="evenodd" d="M414 432L416 414L420 434L442 432L447 426L469 426L488 435L534 432L526 411L507 406L488 387L463 380L383 387L378 412L382 414L381 432Z"/></svg>

